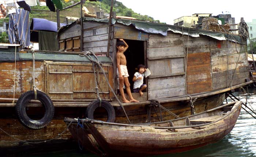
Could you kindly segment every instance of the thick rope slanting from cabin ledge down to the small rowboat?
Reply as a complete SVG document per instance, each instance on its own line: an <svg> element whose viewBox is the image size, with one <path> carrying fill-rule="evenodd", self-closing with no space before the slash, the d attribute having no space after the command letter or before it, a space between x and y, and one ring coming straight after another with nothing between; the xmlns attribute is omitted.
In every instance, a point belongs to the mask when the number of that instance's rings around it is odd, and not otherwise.
<svg viewBox="0 0 256 157"><path fill-rule="evenodd" d="M90 56L90 54L92 54L92 55L94 56L94 58L96 59L96 61L92 59L92 57ZM89 59L92 63L96 63L96 64L98 65L98 67L99 67L99 68L101 69L101 71L103 72L103 75L104 75L104 77L105 77L106 82L108 83L108 86L109 86L111 92L114 94L115 98L117 99L118 104L119 104L119 105L121 106L121 108L124 110L124 113L125 113L125 116L127 117L127 120L128 120L129 123L131 124L131 121L129 120L129 118L128 118L128 116L127 116L127 113L125 112L125 109L124 109L123 104L120 102L120 100L118 99L116 93L114 92L113 88L111 87L111 85L110 85L110 83L109 83L109 80L108 80L108 78L107 78L107 76L106 76L106 73L104 72L104 69L103 69L102 66L101 66L101 62L99 61L99 59L98 59L98 57L95 55L95 53L92 52L92 51L87 51L87 52L84 53L84 55L79 55L79 56L86 56L87 59Z"/></svg>

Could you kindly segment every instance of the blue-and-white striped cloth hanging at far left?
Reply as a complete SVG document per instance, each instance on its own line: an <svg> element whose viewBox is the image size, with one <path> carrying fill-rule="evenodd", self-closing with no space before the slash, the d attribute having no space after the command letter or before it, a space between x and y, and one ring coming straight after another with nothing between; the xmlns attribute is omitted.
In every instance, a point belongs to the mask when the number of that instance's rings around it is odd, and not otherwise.
<svg viewBox="0 0 256 157"><path fill-rule="evenodd" d="M9 15L8 37L11 44L27 47L30 44L29 11L16 9Z"/></svg>

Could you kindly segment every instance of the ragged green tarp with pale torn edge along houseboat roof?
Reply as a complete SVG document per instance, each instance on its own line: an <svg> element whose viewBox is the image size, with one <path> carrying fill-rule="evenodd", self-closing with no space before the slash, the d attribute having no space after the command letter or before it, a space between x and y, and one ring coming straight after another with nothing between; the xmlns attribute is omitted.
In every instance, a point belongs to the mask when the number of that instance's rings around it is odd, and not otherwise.
<svg viewBox="0 0 256 157"><path fill-rule="evenodd" d="M84 21L98 21L108 23L109 19L96 19L86 17L83 19ZM167 36L167 31L172 31L174 33L181 33L184 35L189 35L192 37L199 37L199 35L206 35L210 36L217 40L230 40L240 44L246 44L246 39L242 39L242 37L238 35L231 35L222 32L212 32L206 31L202 29L194 29L188 27L181 27L181 26L174 26L174 25L167 25L167 24L159 24L159 23L152 23L146 21L139 21L139 20L131 20L131 19L112 19L112 24L121 23L124 25L133 25L136 29L147 33L156 33L161 34L163 36Z"/></svg>

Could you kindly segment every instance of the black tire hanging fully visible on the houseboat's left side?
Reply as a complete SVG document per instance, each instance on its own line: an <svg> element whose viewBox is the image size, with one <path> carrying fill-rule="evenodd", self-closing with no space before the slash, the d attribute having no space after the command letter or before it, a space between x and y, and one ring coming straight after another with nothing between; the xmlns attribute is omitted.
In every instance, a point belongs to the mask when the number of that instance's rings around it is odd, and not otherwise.
<svg viewBox="0 0 256 157"><path fill-rule="evenodd" d="M16 103L16 115L20 123L30 129L41 129L48 125L54 115L54 106L52 100L44 92L37 90L37 100L45 107L44 116L40 120L33 120L26 113L26 104L34 100L34 90L23 93Z"/></svg>

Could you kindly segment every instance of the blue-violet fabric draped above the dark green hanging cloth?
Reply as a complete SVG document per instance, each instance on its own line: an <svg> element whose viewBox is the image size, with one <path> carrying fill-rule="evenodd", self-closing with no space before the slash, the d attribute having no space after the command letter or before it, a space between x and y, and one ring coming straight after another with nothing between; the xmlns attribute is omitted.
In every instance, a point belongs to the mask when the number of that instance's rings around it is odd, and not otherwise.
<svg viewBox="0 0 256 157"><path fill-rule="evenodd" d="M65 26L67 24L60 24L61 26ZM57 23L53 21L49 21L46 19L39 19L39 18L33 18L30 29L33 31L39 31L39 30L44 30L44 31L52 31L52 32L57 32Z"/></svg>

